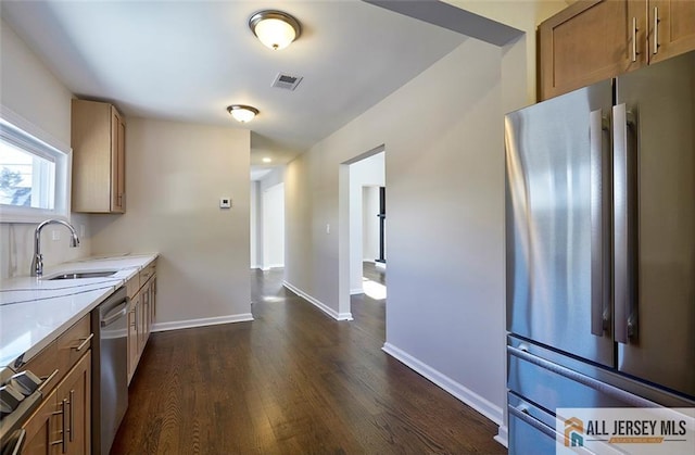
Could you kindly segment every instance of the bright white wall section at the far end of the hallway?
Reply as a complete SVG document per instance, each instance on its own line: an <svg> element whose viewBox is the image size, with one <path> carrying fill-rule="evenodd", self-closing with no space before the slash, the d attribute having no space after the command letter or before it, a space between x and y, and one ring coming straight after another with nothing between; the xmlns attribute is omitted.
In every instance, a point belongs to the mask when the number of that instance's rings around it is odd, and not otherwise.
<svg viewBox="0 0 695 455"><path fill-rule="evenodd" d="M285 267L285 184L263 190L263 269Z"/></svg>

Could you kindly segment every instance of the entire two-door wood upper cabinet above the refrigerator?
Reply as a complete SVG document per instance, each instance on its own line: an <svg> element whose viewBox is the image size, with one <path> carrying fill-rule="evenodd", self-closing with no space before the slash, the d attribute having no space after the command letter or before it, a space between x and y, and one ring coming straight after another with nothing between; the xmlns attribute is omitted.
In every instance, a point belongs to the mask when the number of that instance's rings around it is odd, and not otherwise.
<svg viewBox="0 0 695 455"><path fill-rule="evenodd" d="M695 1L580 0L538 38L544 100L695 49Z"/></svg>

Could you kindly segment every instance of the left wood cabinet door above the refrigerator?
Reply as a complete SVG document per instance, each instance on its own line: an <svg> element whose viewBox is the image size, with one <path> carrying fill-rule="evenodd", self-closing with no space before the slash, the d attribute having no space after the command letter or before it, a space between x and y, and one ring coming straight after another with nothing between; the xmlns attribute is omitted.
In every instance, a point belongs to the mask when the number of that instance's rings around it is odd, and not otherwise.
<svg viewBox="0 0 695 455"><path fill-rule="evenodd" d="M579 1L538 31L541 100L646 64L644 0Z"/></svg>

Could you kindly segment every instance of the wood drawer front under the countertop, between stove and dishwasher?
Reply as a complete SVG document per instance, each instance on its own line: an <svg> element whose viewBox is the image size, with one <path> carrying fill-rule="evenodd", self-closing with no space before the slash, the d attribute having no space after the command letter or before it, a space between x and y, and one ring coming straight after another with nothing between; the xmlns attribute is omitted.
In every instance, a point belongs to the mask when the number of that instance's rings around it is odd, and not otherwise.
<svg viewBox="0 0 695 455"><path fill-rule="evenodd" d="M21 369L28 369L45 378L58 369L58 375L51 380L51 390L65 377L67 371L91 347L90 315L85 315L67 329L55 341L35 355ZM47 390L47 391L48 391Z"/></svg>

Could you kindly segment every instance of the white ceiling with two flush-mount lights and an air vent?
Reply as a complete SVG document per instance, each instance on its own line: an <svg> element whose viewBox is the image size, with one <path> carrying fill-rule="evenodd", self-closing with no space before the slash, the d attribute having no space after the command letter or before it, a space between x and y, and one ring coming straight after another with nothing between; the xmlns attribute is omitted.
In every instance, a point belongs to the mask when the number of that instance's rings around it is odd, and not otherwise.
<svg viewBox="0 0 695 455"><path fill-rule="evenodd" d="M126 116L237 126L227 105L257 108L248 124L252 165L264 156L288 162L466 39L359 0L2 1L0 8L71 91L114 102ZM289 48L267 49L249 29L249 17L264 9L302 24ZM271 88L279 72L304 79L295 91Z"/></svg>

